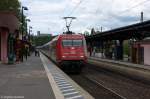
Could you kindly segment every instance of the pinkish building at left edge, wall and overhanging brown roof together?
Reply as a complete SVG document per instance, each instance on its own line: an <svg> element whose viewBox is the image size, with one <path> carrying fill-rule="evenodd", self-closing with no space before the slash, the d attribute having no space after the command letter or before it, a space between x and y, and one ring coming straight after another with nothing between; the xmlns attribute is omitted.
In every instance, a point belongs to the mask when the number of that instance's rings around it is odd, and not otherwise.
<svg viewBox="0 0 150 99"><path fill-rule="evenodd" d="M13 12L0 12L0 61L8 61L8 37L19 29L19 20Z"/></svg>

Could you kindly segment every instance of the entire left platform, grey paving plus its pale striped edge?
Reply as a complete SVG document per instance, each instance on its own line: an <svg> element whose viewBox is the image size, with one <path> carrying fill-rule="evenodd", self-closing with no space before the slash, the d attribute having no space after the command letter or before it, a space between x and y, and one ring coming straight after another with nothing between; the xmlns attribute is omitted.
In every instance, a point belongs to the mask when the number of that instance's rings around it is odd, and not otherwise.
<svg viewBox="0 0 150 99"><path fill-rule="evenodd" d="M0 99L93 99L43 54L0 64Z"/></svg>

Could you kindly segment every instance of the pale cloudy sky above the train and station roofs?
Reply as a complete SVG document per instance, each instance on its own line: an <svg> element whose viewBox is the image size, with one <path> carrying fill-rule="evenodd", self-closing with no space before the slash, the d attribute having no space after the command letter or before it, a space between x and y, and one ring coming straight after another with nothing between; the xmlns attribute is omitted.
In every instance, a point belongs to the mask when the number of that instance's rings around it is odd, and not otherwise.
<svg viewBox="0 0 150 99"><path fill-rule="evenodd" d="M150 19L150 0L20 0L29 8L25 15L31 19L33 32L61 34L65 31L62 17L74 16L71 30L81 32L94 27L110 30Z"/></svg>

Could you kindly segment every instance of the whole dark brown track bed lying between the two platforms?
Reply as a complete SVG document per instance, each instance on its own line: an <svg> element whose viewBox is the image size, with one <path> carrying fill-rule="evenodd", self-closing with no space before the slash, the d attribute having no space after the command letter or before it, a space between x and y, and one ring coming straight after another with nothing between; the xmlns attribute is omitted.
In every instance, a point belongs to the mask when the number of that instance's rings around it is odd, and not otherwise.
<svg viewBox="0 0 150 99"><path fill-rule="evenodd" d="M90 64L70 77L96 99L150 99L150 84Z"/></svg>

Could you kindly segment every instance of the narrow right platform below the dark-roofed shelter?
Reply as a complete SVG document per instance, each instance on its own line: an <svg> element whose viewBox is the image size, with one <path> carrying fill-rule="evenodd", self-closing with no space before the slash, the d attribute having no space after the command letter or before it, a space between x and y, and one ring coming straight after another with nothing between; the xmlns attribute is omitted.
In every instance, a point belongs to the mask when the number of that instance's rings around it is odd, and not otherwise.
<svg viewBox="0 0 150 99"><path fill-rule="evenodd" d="M115 61L103 59L100 57L89 57L88 63L94 64L100 68L104 68L122 75L150 83L150 66L133 64L129 62Z"/></svg>

